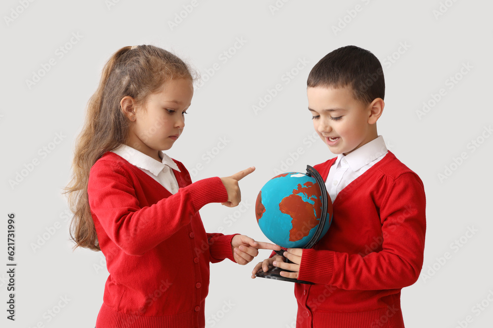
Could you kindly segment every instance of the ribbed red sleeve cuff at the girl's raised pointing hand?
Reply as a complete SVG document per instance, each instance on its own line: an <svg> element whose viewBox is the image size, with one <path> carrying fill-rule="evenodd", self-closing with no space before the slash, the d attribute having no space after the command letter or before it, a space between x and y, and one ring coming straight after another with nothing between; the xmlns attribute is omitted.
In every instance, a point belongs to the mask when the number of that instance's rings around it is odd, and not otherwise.
<svg viewBox="0 0 493 328"><path fill-rule="evenodd" d="M192 195L191 201L195 212L198 212L206 204L228 201L228 192L219 177L202 179L185 188Z"/></svg>

